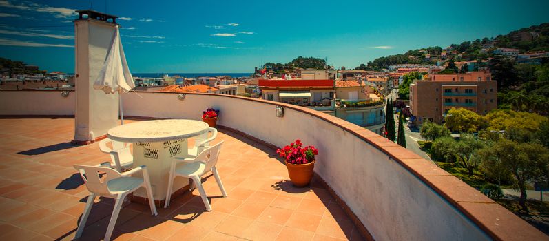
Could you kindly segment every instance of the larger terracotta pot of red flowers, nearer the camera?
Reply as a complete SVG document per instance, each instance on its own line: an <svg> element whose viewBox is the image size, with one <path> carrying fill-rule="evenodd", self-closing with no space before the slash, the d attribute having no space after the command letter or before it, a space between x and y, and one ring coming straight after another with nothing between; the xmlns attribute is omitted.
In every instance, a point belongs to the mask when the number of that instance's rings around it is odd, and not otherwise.
<svg viewBox="0 0 549 241"><path fill-rule="evenodd" d="M276 153L285 158L288 175L294 186L309 185L313 178L315 156L318 155L318 149L311 145L302 147L301 140L296 140L296 142L276 150Z"/></svg>

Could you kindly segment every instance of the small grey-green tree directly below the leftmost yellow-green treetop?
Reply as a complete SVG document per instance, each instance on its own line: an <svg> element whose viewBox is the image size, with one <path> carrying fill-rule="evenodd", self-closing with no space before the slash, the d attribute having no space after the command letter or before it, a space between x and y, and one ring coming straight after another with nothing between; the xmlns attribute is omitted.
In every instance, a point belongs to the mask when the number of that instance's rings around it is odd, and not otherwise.
<svg viewBox="0 0 549 241"><path fill-rule="evenodd" d="M467 169L468 175L473 176L473 170L477 168L478 159L473 158L473 154L478 149L481 149L484 144L481 140L478 140L473 134L462 133L459 141L454 147L454 153L457 159L460 160L462 165Z"/></svg>

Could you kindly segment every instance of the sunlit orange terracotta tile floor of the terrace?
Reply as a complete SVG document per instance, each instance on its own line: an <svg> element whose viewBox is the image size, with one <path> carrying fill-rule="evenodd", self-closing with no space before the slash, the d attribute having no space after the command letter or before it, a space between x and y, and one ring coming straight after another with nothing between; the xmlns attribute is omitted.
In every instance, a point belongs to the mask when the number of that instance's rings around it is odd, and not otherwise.
<svg viewBox="0 0 549 241"><path fill-rule="evenodd" d="M72 240L88 191L74 164L110 160L94 143L72 146L72 118L0 119L0 240ZM214 211L186 191L151 216L127 202L115 240L362 240L342 207L313 178L296 188L275 150L220 129L218 170L227 189L203 180ZM189 143L191 144L191 143ZM114 201L96 199L81 240L101 240Z"/></svg>

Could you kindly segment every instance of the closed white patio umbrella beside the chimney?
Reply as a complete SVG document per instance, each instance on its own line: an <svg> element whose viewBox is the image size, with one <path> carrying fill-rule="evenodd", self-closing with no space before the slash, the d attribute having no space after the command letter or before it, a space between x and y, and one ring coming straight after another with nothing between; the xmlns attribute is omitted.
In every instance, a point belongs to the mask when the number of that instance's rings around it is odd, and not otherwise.
<svg viewBox="0 0 549 241"><path fill-rule="evenodd" d="M130 69L127 67L126 56L124 55L124 48L122 48L122 42L120 41L120 32L118 25L114 30L112 36L111 45L105 63L99 72L94 82L94 89L103 90L105 94L122 94L123 92L129 92L135 87L134 78L130 74ZM124 124L124 115L122 112L122 96L118 96L120 106L120 120L121 125Z"/></svg>

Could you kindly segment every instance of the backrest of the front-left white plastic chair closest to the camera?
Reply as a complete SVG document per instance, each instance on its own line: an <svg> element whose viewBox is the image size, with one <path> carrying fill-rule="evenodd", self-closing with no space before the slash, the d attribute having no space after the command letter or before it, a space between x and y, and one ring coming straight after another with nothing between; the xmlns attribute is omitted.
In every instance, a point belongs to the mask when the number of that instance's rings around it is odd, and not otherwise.
<svg viewBox="0 0 549 241"><path fill-rule="evenodd" d="M122 176L118 171L109 167L74 165L74 169L79 171L87 190L92 193L97 193L100 196L110 195L107 182ZM103 180L101 179L101 176L99 176L100 173L105 173Z"/></svg>

